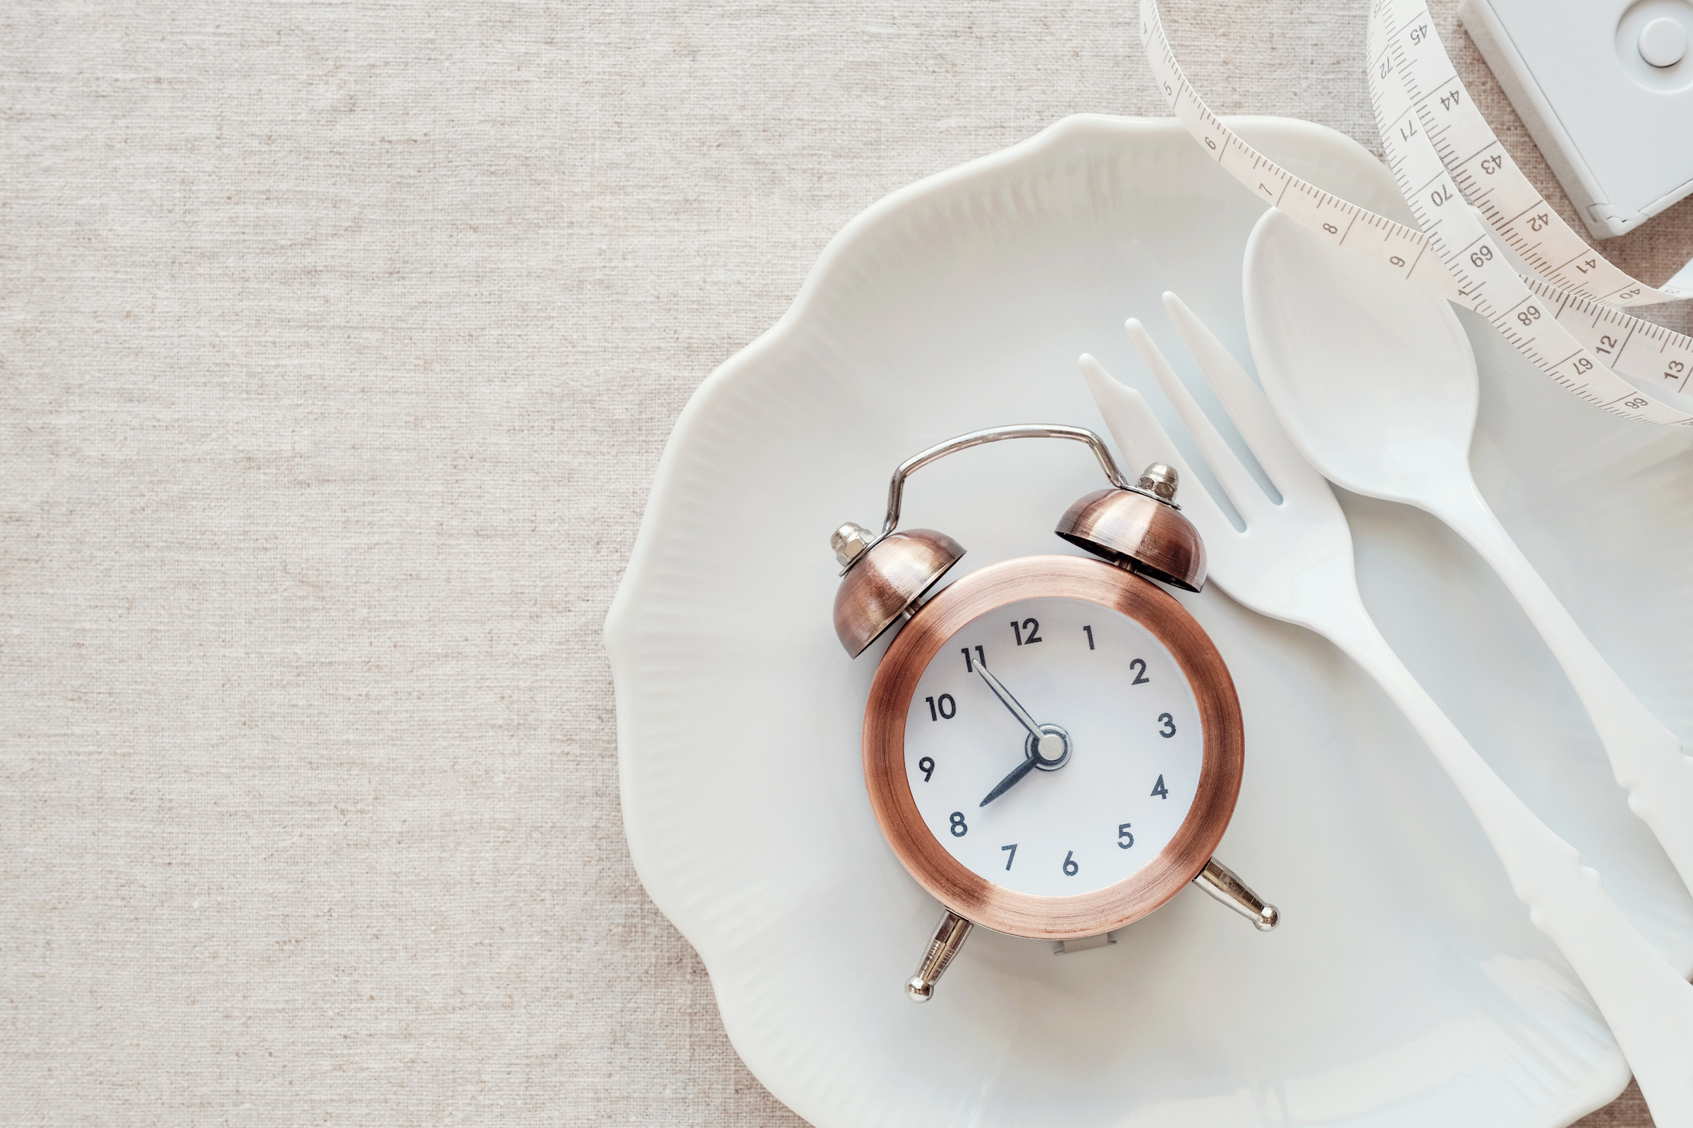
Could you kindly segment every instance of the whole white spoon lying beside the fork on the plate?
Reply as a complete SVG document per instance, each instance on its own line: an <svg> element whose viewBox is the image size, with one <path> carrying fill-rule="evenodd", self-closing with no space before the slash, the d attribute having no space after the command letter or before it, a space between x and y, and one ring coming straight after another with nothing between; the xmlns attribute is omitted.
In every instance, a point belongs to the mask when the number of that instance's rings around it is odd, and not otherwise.
<svg viewBox="0 0 1693 1128"><path fill-rule="evenodd" d="M1569 675L1629 808L1693 890L1693 758L1481 499L1470 472L1476 362L1451 306L1327 247L1275 208L1253 228L1244 274L1258 375L1293 445L1354 494L1434 514L1498 572Z"/></svg>

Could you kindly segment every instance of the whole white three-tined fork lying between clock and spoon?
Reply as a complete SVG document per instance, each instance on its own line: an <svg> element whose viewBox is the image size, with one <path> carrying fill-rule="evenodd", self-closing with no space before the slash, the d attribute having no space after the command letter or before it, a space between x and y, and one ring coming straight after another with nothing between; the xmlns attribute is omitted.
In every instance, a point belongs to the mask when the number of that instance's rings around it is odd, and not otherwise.
<svg viewBox="0 0 1693 1128"><path fill-rule="evenodd" d="M1082 374L1117 446L1131 462L1156 458L1175 467L1187 482L1182 507L1205 538L1210 578L1253 611L1322 634L1393 698L1481 824L1529 920L1559 947L1610 1023L1657 1126L1693 1128L1693 984L1646 942L1598 873L1505 786L1410 675L1365 611L1351 528L1329 484L1199 318L1175 294L1165 294L1165 311L1282 501L1258 485L1134 320L1129 338L1246 529L1236 531L1217 507L1139 392L1084 355Z"/></svg>

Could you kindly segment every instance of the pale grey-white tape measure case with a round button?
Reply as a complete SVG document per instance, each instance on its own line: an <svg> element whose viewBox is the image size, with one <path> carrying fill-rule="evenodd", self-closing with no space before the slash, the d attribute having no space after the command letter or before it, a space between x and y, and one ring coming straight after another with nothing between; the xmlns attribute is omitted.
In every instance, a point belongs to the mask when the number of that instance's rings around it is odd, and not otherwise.
<svg viewBox="0 0 1693 1128"><path fill-rule="evenodd" d="M1463 0L1458 19L1595 238L1693 193L1693 3Z"/></svg>

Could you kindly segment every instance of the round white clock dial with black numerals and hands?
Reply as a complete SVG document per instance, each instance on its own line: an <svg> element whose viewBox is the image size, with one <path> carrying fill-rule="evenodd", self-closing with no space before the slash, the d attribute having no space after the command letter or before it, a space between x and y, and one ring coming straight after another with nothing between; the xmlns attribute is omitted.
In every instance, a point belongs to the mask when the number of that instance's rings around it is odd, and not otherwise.
<svg viewBox="0 0 1693 1128"><path fill-rule="evenodd" d="M1122 881L1170 842L1204 744L1187 676L1151 631L1082 599L1024 599L970 621L923 671L906 778L929 834L972 873L1072 896Z"/></svg>

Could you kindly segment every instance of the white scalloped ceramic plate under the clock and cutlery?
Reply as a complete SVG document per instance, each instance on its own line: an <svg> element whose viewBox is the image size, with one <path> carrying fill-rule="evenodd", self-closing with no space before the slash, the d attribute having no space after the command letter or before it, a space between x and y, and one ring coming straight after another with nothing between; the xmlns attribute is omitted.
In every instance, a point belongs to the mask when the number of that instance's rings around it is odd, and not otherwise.
<svg viewBox="0 0 1693 1128"><path fill-rule="evenodd" d="M1297 174L1403 211L1339 134L1233 125ZM901 989L940 910L865 798L858 726L882 644L850 661L835 641L828 534L877 524L892 467L960 431L1104 433L1077 353L1161 404L1121 326L1139 316L1183 357L1166 287L1246 359L1258 211L1173 122L1068 118L853 220L670 436L606 624L630 849L709 967L736 1050L816 1125L1539 1126L1627 1081L1392 705L1329 644L1216 590L1183 602L1248 727L1219 856L1282 928L1260 935L1188 890L1090 952L977 930L933 1003ZM1624 678L1693 736L1693 436L1610 419L1485 325L1471 337L1483 490ZM1001 443L918 474L906 523L970 550L957 578L1073 551L1051 526L1099 485L1080 446ZM1365 597L1412 670L1693 966L1693 903L1503 589L1432 519L1343 501Z"/></svg>

